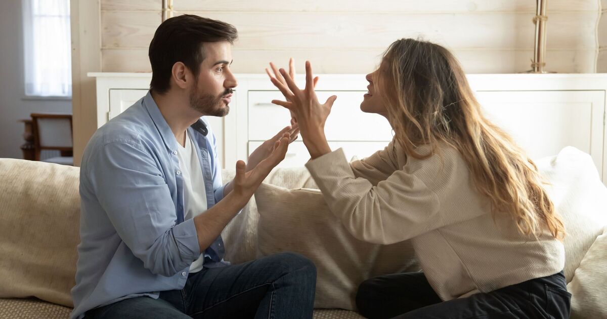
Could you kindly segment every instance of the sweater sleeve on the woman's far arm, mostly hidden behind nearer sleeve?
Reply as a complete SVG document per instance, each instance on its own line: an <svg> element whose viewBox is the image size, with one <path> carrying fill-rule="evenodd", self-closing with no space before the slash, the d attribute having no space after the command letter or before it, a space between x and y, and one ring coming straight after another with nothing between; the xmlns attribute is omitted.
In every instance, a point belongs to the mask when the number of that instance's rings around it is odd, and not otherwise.
<svg viewBox="0 0 607 319"><path fill-rule="evenodd" d="M354 177L362 177L375 186L382 180L387 179L395 170L398 170L394 154L394 143L395 141L392 140L381 151L377 151L365 159L351 162L350 168Z"/></svg>

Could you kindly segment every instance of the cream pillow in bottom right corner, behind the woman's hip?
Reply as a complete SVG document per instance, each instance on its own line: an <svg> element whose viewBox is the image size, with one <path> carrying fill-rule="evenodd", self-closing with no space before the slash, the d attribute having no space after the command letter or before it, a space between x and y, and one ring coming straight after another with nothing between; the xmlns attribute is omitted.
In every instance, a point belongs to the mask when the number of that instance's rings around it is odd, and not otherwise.
<svg viewBox="0 0 607 319"><path fill-rule="evenodd" d="M571 318L607 318L607 228L586 252L567 289Z"/></svg>

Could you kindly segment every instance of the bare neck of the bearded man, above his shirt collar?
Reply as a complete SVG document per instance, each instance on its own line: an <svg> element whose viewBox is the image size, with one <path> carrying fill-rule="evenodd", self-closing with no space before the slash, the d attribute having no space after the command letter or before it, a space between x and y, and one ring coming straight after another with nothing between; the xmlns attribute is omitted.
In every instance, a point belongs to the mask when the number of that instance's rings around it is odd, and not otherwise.
<svg viewBox="0 0 607 319"><path fill-rule="evenodd" d="M185 146L186 129L196 123L201 115L190 107L189 99L184 94L175 94L171 91L157 94L152 91L152 98L177 142Z"/></svg>

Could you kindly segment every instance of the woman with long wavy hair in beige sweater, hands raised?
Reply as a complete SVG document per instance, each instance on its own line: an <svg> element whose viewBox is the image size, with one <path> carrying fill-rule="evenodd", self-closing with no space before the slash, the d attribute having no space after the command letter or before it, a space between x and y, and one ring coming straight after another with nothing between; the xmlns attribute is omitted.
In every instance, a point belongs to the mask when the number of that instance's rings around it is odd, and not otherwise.
<svg viewBox="0 0 607 319"><path fill-rule="evenodd" d="M280 74L280 76L279 76ZM300 90L285 70L271 81L287 101L307 168L353 236L410 239L423 272L364 281L370 318L568 318L563 223L534 163L490 123L453 55L400 39L367 75L361 110L384 115L395 138L348 163L324 125L336 97L316 98L310 63ZM524 116L521 114L521 116Z"/></svg>

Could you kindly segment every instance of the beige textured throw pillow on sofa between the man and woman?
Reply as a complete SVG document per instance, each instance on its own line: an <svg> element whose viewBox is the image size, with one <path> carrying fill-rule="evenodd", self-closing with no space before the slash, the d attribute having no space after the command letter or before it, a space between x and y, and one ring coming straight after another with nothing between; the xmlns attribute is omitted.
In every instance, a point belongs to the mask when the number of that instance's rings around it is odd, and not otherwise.
<svg viewBox="0 0 607 319"><path fill-rule="evenodd" d="M354 310L363 280L417 269L409 241L388 246L359 241L331 213L319 190L262 184L255 197L260 255L296 252L310 258L317 269L315 308Z"/></svg>

